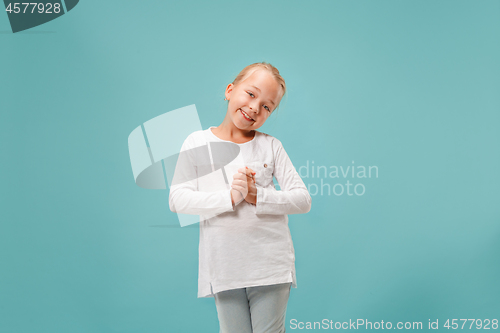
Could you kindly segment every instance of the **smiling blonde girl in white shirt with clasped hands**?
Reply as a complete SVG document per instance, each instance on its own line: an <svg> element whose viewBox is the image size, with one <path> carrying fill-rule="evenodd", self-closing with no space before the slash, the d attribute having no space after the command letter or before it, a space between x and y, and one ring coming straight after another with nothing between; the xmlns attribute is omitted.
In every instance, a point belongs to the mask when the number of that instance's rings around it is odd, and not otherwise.
<svg viewBox="0 0 500 333"><path fill-rule="evenodd" d="M226 87L222 123L190 134L182 145L193 162L178 162L175 175L191 180L170 188L173 212L200 215L198 297L214 297L221 333L285 332L290 288L297 287L287 215L309 212L311 196L281 142L257 131L285 91L271 64L245 67ZM237 154L245 163L230 181L224 168L214 167L224 144L237 148L226 160ZM205 161L214 172L200 171L201 156L210 157Z"/></svg>

